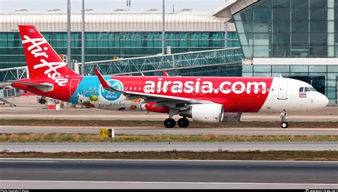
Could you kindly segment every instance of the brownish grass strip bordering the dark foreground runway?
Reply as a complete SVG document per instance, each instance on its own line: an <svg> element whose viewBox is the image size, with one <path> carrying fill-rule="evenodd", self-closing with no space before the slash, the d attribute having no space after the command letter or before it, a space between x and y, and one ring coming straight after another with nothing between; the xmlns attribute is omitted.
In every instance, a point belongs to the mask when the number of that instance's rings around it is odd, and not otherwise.
<svg viewBox="0 0 338 192"><path fill-rule="evenodd" d="M0 158L338 161L337 151L0 152Z"/></svg>

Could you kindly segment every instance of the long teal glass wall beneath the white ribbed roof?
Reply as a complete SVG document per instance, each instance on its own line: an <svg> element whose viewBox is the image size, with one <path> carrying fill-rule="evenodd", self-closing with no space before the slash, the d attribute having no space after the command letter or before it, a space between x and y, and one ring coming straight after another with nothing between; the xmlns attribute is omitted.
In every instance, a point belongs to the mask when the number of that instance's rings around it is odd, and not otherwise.
<svg viewBox="0 0 338 192"><path fill-rule="evenodd" d="M58 54L67 53L67 33L42 33ZM225 47L224 32L167 32L166 45L172 53ZM86 33L86 61L132 58L162 53L161 33ZM240 47L237 33L227 36L227 47ZM81 33L71 34L71 59L81 61ZM18 32L0 33L0 68L25 66L26 59Z"/></svg>

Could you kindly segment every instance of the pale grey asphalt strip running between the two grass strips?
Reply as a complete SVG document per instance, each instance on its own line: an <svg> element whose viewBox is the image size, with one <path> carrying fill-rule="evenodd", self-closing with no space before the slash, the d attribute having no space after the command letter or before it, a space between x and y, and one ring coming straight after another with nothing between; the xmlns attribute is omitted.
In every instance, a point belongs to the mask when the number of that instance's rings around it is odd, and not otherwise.
<svg viewBox="0 0 338 192"><path fill-rule="evenodd" d="M338 142L0 143L0 151L338 151Z"/></svg>

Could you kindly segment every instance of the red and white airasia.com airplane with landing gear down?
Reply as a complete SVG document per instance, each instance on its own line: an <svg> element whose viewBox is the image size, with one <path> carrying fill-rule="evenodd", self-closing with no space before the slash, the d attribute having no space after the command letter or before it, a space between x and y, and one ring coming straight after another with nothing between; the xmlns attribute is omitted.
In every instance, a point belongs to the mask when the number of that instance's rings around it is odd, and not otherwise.
<svg viewBox="0 0 338 192"><path fill-rule="evenodd" d="M196 122L237 121L243 112L316 110L329 100L306 82L290 78L83 76L70 70L34 26L20 25L29 78L12 85L37 95L105 110L168 114L164 126L188 127Z"/></svg>

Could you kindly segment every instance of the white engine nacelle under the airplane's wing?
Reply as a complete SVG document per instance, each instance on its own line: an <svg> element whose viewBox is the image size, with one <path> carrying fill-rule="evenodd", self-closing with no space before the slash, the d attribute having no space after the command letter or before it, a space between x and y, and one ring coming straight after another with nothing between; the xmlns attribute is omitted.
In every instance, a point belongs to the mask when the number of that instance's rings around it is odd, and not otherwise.
<svg viewBox="0 0 338 192"><path fill-rule="evenodd" d="M180 111L179 114L196 122L219 123L223 120L224 108L220 104L190 105L188 110Z"/></svg>

